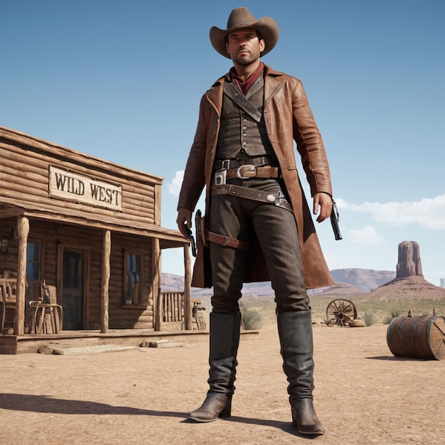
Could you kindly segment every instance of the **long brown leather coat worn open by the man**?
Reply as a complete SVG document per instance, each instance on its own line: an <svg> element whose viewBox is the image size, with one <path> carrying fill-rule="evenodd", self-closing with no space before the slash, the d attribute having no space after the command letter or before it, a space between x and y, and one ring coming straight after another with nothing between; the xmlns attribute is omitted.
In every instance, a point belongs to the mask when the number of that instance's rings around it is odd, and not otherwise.
<svg viewBox="0 0 445 445"><path fill-rule="evenodd" d="M333 280L321 252L311 210L301 188L294 155L295 140L311 187L311 195L318 192L332 195L331 176L321 134L313 119L301 81L274 71L267 65L264 70L264 120L299 227L304 280L308 289L328 286L333 284ZM210 214L210 185L220 128L223 81L224 77L221 77L201 99L198 127L178 201L178 208L195 210L205 186L205 215ZM246 272L245 282L268 281L261 252L255 252L250 258L252 261ZM195 260L192 286L211 285L208 252L201 249Z"/></svg>

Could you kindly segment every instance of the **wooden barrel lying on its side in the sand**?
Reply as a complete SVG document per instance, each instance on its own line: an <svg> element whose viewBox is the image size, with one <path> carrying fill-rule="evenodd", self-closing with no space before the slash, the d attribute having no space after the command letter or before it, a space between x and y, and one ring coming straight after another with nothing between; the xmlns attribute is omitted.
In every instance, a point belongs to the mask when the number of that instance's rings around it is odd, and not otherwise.
<svg viewBox="0 0 445 445"><path fill-rule="evenodd" d="M444 359L445 318L440 315L394 318L386 339L397 357Z"/></svg>

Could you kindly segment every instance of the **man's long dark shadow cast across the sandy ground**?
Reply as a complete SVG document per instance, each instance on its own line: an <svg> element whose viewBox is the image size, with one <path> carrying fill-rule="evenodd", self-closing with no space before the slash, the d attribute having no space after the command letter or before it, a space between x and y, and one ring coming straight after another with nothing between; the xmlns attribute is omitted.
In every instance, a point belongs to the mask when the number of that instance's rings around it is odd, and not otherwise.
<svg viewBox="0 0 445 445"><path fill-rule="evenodd" d="M185 412L156 411L155 409L139 409L132 407L119 407L99 402L87 402L85 400L66 400L49 397L46 395L23 395L14 393L0 393L0 409L16 411L41 412L46 414L112 414L124 416L154 416L154 417L178 417L184 423L198 424L192 420L185 419ZM262 425L263 427L274 427L294 436L314 439L316 436L299 434L290 422L279 422L277 420L253 419L250 417L231 416L220 419L225 422L240 422L243 424Z"/></svg>

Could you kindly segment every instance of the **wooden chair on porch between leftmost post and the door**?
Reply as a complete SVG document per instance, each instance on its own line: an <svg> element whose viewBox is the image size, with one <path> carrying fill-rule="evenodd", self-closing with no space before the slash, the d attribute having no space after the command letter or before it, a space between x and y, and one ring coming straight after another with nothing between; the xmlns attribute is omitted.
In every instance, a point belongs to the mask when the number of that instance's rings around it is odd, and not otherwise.
<svg viewBox="0 0 445 445"><path fill-rule="evenodd" d="M31 301L36 308L33 316L33 331L41 333L60 333L63 327L63 308L57 303L57 288L43 281L43 300Z"/></svg>

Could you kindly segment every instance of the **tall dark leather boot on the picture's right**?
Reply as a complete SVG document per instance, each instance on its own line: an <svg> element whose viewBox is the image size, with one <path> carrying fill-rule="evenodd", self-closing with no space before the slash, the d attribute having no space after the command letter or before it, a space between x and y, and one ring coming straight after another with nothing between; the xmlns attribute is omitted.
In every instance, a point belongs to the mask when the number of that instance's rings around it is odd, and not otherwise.
<svg viewBox="0 0 445 445"><path fill-rule="evenodd" d="M313 339L311 311L278 313L283 370L289 386L292 423L301 434L324 434L313 409Z"/></svg>

